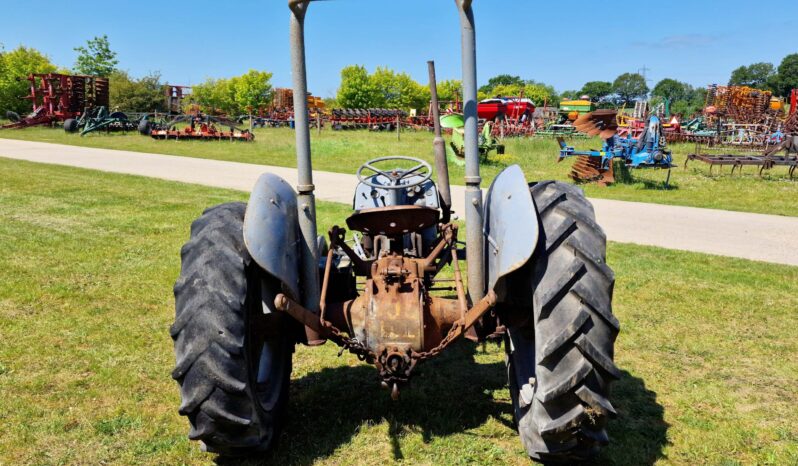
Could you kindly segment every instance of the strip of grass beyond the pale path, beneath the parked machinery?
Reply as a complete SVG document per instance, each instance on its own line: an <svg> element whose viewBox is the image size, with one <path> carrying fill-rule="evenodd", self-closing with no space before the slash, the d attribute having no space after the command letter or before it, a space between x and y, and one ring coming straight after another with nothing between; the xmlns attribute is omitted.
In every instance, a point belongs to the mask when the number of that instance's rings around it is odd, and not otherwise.
<svg viewBox="0 0 798 466"><path fill-rule="evenodd" d="M93 134L80 137L61 129L28 128L3 131L0 137L28 139L89 147L122 149L140 152L183 155L218 160L259 163L293 167L294 133L292 130L256 129L253 144L203 141L155 141L137 133ZM412 155L432 161L431 135L426 132L402 133L397 142L394 133L367 131L336 132L325 130L312 133L313 164L316 170L354 173L369 158L384 155ZM600 141L574 140L578 149L600 148ZM489 183L505 166L520 164L529 180L567 180L570 162L557 163L558 146L550 139L508 139L507 154L492 156L483 167L483 177ZM759 177L754 167L747 167L742 176L729 175L729 168L721 175L717 168L709 175L708 166L693 162L683 168L690 144L672 146L676 168L673 169L670 190L663 189L665 172L635 170L629 179L608 188L586 185L589 196L659 204L686 205L715 209L798 216L798 180L787 178L787 170L778 167ZM463 168L452 166L452 182L463 183ZM486 185L487 185L486 183Z"/></svg>

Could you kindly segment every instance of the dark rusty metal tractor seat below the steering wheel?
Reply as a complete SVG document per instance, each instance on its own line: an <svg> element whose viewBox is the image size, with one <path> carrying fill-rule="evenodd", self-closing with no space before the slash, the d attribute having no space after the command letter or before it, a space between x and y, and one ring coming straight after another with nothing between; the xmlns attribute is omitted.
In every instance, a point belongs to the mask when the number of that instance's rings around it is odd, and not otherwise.
<svg viewBox="0 0 798 466"><path fill-rule="evenodd" d="M397 205L355 211L346 219L350 230L369 235L399 236L438 223L440 211L432 207Z"/></svg>

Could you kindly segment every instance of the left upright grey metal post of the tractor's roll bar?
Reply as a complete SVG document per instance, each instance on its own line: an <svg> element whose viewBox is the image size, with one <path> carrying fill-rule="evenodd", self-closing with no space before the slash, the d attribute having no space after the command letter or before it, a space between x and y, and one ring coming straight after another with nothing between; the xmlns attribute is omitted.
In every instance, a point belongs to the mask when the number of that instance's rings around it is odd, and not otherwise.
<svg viewBox="0 0 798 466"><path fill-rule="evenodd" d="M297 205L299 209L300 283L302 305L319 313L319 272L316 246L316 199L313 195L313 167L310 161L310 124L308 122L308 80L305 68L305 13L310 0L289 0L291 9L291 72L294 85L294 122L296 131L296 164L299 177ZM322 343L317 332L306 327L308 344Z"/></svg>

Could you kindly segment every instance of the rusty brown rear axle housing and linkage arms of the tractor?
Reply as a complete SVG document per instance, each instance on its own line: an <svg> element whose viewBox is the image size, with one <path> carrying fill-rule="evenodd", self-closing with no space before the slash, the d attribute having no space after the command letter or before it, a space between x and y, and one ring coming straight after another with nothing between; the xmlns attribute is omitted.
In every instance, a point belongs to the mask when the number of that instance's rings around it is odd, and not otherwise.
<svg viewBox="0 0 798 466"><path fill-rule="evenodd" d="M352 253L344 248L344 241L344 230L333 227L327 264L332 263L333 250ZM383 384L398 397L399 385L409 380L417 363L440 354L496 304L491 290L467 309L459 267L454 279L458 299L429 294L439 265L450 259L448 254L456 257L457 253L457 227L443 225L426 257L392 252L372 261L364 292L355 299L319 303L321 315L285 294L277 295L275 307L304 324L309 336L332 340L342 347L341 353L349 351L374 364ZM331 266L325 266L321 293L325 301L330 275Z"/></svg>

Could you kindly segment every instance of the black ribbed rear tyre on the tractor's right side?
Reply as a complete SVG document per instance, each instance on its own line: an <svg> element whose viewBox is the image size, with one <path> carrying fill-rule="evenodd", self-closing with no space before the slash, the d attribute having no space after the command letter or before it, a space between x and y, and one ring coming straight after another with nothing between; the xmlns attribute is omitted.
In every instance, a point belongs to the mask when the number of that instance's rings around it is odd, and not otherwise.
<svg viewBox="0 0 798 466"><path fill-rule="evenodd" d="M581 189L533 184L540 243L531 288L533 315L507 331L510 394L521 441L542 462L592 458L615 416L609 384L618 320L606 237Z"/></svg>

